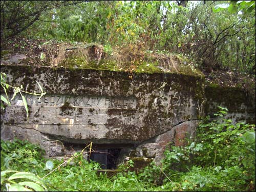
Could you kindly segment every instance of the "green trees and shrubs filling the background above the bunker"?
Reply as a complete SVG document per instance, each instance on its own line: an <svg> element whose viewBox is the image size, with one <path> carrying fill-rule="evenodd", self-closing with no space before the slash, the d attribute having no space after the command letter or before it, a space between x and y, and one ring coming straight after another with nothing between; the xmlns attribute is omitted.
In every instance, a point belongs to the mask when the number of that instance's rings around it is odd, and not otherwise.
<svg viewBox="0 0 256 192"><path fill-rule="evenodd" d="M140 44L255 73L255 1L1 1L1 39Z"/></svg>

